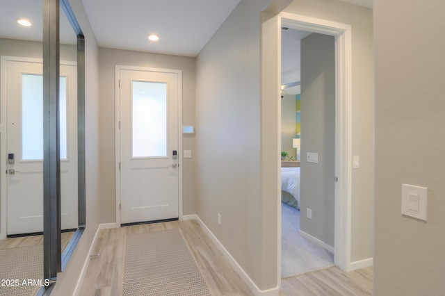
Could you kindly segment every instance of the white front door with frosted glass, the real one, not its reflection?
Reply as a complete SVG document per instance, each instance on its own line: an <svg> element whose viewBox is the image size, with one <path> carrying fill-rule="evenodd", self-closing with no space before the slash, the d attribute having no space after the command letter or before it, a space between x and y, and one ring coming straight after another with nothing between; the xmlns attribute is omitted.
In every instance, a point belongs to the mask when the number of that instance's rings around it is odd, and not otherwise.
<svg viewBox="0 0 445 296"><path fill-rule="evenodd" d="M120 69L121 223L179 217L177 73Z"/></svg>

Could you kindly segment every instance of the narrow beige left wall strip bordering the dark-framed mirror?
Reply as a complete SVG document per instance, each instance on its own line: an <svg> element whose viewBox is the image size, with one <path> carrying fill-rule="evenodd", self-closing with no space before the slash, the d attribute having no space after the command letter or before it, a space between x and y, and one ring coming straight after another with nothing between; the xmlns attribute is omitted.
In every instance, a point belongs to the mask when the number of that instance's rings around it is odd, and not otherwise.
<svg viewBox="0 0 445 296"><path fill-rule="evenodd" d="M58 274L51 295L73 295L83 263L89 258L92 240L99 227L99 49L81 0L70 4L86 40L86 229L64 272ZM61 13L61 11L60 11Z"/></svg>

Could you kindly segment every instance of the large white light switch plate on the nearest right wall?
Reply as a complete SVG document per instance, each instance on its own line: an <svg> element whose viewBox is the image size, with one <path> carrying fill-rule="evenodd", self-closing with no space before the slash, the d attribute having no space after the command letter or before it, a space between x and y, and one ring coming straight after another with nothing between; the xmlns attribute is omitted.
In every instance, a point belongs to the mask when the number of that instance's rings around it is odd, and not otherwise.
<svg viewBox="0 0 445 296"><path fill-rule="evenodd" d="M426 221L428 188L402 184L402 214Z"/></svg>

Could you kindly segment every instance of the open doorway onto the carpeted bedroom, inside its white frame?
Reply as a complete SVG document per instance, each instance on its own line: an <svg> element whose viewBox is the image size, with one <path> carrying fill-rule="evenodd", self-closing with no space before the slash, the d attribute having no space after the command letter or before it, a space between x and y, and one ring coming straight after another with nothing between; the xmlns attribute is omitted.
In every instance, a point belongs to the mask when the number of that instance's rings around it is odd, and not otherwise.
<svg viewBox="0 0 445 296"><path fill-rule="evenodd" d="M333 36L284 26L281 44L285 278L334 265L335 48Z"/></svg>

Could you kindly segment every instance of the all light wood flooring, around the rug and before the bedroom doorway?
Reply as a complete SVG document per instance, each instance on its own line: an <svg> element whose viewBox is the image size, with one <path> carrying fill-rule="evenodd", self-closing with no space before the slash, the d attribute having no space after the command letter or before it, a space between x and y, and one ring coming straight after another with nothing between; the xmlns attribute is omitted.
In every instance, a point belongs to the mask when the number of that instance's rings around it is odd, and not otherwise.
<svg viewBox="0 0 445 296"><path fill-rule="evenodd" d="M127 234L180 229L212 295L252 295L195 220L144 224L99 232L80 295L118 295ZM372 295L372 268L343 272L329 268L282 279L283 296Z"/></svg>

